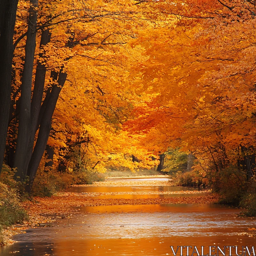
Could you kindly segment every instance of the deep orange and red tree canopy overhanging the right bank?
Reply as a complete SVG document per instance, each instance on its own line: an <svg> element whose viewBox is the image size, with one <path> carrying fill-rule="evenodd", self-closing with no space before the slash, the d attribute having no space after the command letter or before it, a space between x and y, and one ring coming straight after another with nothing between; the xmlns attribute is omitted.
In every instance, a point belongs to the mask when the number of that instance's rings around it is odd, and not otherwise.
<svg viewBox="0 0 256 256"><path fill-rule="evenodd" d="M254 2L159 1L155 8L172 21L131 42L145 48L134 68L137 93L151 97L134 109L130 131L147 134L148 148L193 152L201 172L253 158Z"/></svg>

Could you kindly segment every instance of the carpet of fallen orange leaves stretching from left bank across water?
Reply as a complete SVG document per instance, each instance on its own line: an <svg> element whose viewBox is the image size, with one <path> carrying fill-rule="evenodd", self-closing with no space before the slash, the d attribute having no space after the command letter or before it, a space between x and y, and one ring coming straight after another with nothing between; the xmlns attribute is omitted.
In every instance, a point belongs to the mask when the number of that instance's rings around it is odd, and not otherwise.
<svg viewBox="0 0 256 256"><path fill-rule="evenodd" d="M179 194L174 191L173 194ZM189 194L198 193L189 191ZM200 192L199 192L200 193ZM72 218L72 214L79 213L78 207L84 206L110 206L110 205L149 205L149 204L212 204L217 203L217 195L196 196L196 197L172 197L172 198L147 198L147 199L95 199L78 193L58 193L50 198L36 197L33 201L24 202L23 207L28 212L29 220L22 225L13 225L2 233L4 243L12 244L12 236L24 232L28 228L47 227L59 218Z"/></svg>

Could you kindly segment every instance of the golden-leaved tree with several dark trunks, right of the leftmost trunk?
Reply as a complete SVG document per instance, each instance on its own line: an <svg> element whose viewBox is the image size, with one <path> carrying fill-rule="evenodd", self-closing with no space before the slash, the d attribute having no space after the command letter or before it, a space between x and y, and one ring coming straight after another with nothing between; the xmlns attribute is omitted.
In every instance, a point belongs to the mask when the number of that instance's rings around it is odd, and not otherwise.
<svg viewBox="0 0 256 256"><path fill-rule="evenodd" d="M126 64L125 61L132 61L134 57L131 55L138 58L139 51L124 46L138 29L150 24L144 18L144 7L135 3L95 1L87 5L76 0L56 0L48 4L44 0L31 0L28 5L27 1L20 1L15 25L15 76L12 79L6 155L13 157L10 152L15 148L14 159L8 161L17 168L17 179L24 180L29 176L28 192L49 136L56 138L56 133L66 136L71 133L70 137L82 141L85 136L85 146L81 148L84 150L91 144L98 158L99 153L95 150L98 145L92 140L98 138L88 131L100 127L108 137L111 133L128 136L127 132L119 133L119 130L132 108L128 102L132 99L132 90L122 92L121 88L128 84L127 70L132 66L132 62ZM54 115L56 106L57 116ZM62 116L63 113L68 113L68 116ZM89 116L92 113L94 118ZM66 123L60 132L61 118ZM90 124L94 126L90 127ZM87 141L89 136L90 141ZM65 152L63 157L70 143L64 137L58 140L51 146L58 148L61 144ZM136 145L136 138L133 141ZM100 156L100 161L91 163L93 168L103 168L103 162L117 162L117 159L124 164L126 155L134 153L127 146L119 151L116 146L104 150L104 157ZM147 151L141 149L141 152L144 153L142 159L148 157ZM134 154L140 156L140 152ZM148 166L145 161L142 163Z"/></svg>

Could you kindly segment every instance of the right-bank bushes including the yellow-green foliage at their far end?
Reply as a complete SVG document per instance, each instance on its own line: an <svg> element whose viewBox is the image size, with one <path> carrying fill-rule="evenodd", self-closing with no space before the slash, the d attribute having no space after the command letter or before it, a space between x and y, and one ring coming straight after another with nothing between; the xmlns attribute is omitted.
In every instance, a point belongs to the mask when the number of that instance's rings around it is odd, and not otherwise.
<svg viewBox="0 0 256 256"><path fill-rule="evenodd" d="M215 152L215 151L214 151ZM197 153L169 148L163 155L163 171L171 178L173 186L202 187L220 196L220 204L229 204L241 209L241 216L256 216L255 155L237 149L236 161L215 152L205 159ZM198 158L197 158L197 157Z"/></svg>

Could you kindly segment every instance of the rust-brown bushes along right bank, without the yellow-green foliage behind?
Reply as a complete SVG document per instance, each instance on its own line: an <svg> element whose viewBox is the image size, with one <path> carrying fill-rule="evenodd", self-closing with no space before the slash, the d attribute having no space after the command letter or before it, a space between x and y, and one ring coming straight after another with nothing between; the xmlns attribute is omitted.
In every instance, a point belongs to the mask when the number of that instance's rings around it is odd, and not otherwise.
<svg viewBox="0 0 256 256"><path fill-rule="evenodd" d="M186 162L185 162L186 163ZM184 163L183 163L184 164ZM220 195L220 204L241 209L241 216L256 216L256 176L248 176L246 170L236 166L219 169L218 172L202 172L191 167L177 168L169 172L174 186L208 188ZM186 166L186 164L185 164Z"/></svg>

